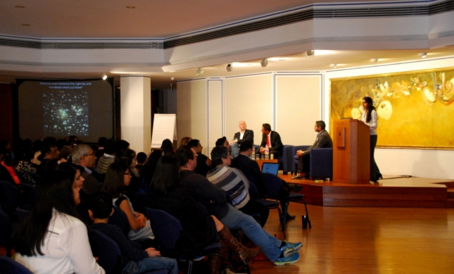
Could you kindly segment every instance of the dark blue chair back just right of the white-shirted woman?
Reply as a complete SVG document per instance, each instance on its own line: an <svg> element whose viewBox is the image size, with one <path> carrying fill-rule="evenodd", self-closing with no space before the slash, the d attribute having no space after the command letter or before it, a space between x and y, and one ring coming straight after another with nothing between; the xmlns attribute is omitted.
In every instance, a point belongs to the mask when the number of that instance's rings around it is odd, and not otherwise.
<svg viewBox="0 0 454 274"><path fill-rule="evenodd" d="M91 230L91 233L92 252L98 257L99 266L106 270L106 274L120 273L124 264L118 244L103 232Z"/></svg>

